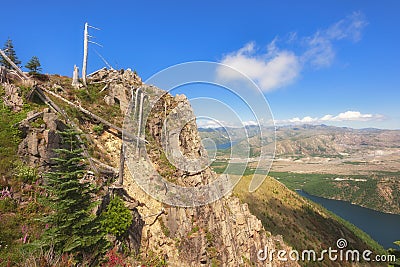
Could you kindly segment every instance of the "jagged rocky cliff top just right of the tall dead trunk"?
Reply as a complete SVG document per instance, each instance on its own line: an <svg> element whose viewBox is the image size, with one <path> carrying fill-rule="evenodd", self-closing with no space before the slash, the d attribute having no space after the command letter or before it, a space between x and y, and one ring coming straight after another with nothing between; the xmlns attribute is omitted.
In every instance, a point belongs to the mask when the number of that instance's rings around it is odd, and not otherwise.
<svg viewBox="0 0 400 267"><path fill-rule="evenodd" d="M142 85L142 80L130 69L107 70L101 69L89 77L91 82L105 82L107 95L104 101L112 106L118 103L121 113L125 113L132 97L132 88Z"/></svg>

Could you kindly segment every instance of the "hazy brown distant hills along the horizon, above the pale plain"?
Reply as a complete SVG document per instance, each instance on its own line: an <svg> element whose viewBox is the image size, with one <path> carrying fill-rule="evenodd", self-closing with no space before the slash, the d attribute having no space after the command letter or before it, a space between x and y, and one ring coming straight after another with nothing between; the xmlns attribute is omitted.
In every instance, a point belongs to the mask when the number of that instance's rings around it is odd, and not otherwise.
<svg viewBox="0 0 400 267"><path fill-rule="evenodd" d="M211 138L217 145L231 141L240 145L248 138L253 149L260 145L270 145L272 140L259 142L257 126L247 126L247 136L239 128L200 128L201 137ZM272 128L262 131L273 133ZM269 138L271 139L271 138ZM280 126L276 128L276 156L343 156L368 150L400 148L400 130L381 130L375 128L352 129L327 125Z"/></svg>

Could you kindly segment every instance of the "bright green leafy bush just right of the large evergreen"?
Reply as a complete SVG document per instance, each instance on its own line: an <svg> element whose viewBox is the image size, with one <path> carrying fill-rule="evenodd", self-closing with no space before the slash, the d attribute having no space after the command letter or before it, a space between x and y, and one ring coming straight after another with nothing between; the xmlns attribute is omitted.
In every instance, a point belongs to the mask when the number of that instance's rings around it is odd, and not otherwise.
<svg viewBox="0 0 400 267"><path fill-rule="evenodd" d="M133 220L131 211L118 196L111 199L107 211L103 212L101 217L101 226L104 231L116 236L117 239L125 235Z"/></svg>

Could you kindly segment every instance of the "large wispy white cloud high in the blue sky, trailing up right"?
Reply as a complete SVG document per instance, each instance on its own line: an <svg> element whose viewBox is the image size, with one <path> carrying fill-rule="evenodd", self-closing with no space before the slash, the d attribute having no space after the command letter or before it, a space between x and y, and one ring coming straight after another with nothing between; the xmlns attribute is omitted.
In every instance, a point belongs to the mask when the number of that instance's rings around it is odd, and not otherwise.
<svg viewBox="0 0 400 267"><path fill-rule="evenodd" d="M296 32L287 36L287 43L304 45L304 50L295 52L280 49L275 38L266 51L249 42L238 51L225 55L221 63L228 65L254 80L259 87L268 92L293 83L306 65L314 68L328 67L335 58L334 42L347 39L357 42L367 22L362 13L355 12L313 35L300 38ZM217 69L217 79L235 81L243 77L227 68Z"/></svg>

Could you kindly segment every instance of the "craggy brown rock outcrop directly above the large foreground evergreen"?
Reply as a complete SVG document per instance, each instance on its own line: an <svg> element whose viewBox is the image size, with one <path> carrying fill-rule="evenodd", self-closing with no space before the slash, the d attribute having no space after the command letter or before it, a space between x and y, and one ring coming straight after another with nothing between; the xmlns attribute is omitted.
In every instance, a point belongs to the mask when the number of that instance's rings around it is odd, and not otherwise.
<svg viewBox="0 0 400 267"><path fill-rule="evenodd" d="M31 115L33 114L28 114L28 117ZM36 123L38 121L42 124L33 126L35 123L24 121L19 126L24 139L18 146L18 155L29 166L45 170L51 165L51 159L55 156L53 150L62 146L57 131L64 130L66 126L58 119L57 114L48 108L44 109L42 117L36 119Z"/></svg>

